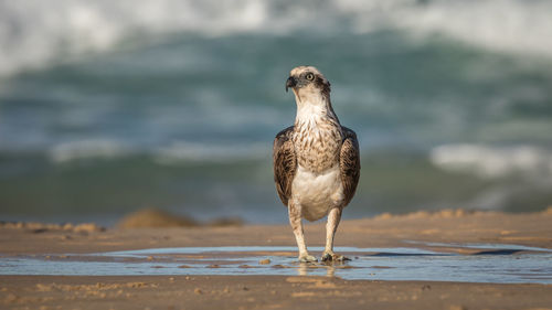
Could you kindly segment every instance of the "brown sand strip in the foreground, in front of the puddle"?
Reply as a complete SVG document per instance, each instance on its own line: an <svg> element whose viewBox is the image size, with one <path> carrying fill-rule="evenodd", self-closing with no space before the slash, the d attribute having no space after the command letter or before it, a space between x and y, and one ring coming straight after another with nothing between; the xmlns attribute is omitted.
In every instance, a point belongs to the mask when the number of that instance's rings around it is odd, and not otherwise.
<svg viewBox="0 0 552 310"><path fill-rule="evenodd" d="M550 286L328 277L2 277L11 309L550 309Z"/></svg>

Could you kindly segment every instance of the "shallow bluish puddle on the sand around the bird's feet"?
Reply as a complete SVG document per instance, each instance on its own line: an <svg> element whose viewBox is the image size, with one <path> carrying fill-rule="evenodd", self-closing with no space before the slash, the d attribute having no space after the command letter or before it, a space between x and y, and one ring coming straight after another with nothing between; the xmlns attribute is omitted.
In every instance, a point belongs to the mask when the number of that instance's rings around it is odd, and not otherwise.
<svg viewBox="0 0 552 310"><path fill-rule="evenodd" d="M0 275L137 276L137 275L309 275L364 280L428 280L552 284L552 250L499 244L423 244L450 248L337 247L344 264L300 264L296 247L180 247L108 252L88 255L0 257ZM454 249L477 248L461 255ZM320 255L323 248L311 247ZM262 261L269 259L268 261Z"/></svg>

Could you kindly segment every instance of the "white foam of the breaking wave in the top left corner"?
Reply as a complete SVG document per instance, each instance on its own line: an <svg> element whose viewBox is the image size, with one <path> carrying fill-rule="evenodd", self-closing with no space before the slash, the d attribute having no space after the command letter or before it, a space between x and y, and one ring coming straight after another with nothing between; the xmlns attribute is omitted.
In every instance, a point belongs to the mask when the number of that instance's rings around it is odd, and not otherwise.
<svg viewBox="0 0 552 310"><path fill-rule="evenodd" d="M104 52L137 34L252 31L263 1L0 1L0 75ZM215 21L215 22L213 22Z"/></svg>

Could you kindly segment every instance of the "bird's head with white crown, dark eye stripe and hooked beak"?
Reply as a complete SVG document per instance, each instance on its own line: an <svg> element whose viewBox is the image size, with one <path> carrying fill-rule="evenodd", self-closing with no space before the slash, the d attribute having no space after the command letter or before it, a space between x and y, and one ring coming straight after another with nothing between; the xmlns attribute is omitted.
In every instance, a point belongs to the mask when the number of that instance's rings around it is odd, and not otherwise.
<svg viewBox="0 0 552 310"><path fill-rule="evenodd" d="M330 97L330 83L314 66L298 66L289 72L286 81L286 92L294 90L298 103L320 101Z"/></svg>

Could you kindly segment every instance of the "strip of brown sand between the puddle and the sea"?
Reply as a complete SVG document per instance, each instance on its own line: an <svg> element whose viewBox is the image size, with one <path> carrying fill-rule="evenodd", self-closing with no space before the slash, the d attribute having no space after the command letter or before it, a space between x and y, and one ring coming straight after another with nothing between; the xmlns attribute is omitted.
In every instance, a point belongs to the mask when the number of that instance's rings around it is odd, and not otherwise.
<svg viewBox="0 0 552 310"><path fill-rule="evenodd" d="M412 243L496 243L552 248L552 207L533 213L444 210L346 220L336 247L413 247ZM323 246L326 222L305 223L307 246ZM3 255L97 253L155 247L296 246L287 224L105 228L94 223L0 222Z"/></svg>

